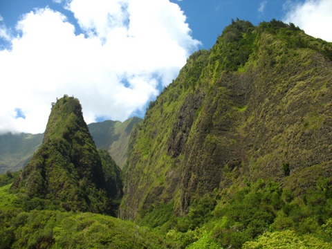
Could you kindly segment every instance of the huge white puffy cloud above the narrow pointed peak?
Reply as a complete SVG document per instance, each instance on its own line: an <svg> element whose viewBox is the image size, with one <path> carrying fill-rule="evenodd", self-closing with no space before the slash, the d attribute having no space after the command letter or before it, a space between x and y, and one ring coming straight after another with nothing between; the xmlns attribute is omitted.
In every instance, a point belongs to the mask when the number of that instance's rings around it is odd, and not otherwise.
<svg viewBox="0 0 332 249"><path fill-rule="evenodd" d="M80 32L62 13L37 9L0 50L0 133L44 132L51 102L64 94L80 100L87 123L125 120L144 111L200 44L168 0L73 0L65 8Z"/></svg>

